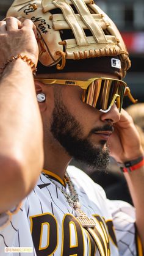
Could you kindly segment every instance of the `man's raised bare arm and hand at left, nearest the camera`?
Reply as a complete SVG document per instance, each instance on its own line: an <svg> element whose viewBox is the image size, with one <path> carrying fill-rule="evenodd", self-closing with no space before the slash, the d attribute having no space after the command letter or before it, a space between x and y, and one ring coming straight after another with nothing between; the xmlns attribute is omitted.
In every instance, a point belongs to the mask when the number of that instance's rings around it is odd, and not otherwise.
<svg viewBox="0 0 144 256"><path fill-rule="evenodd" d="M29 194L43 167L43 129L32 68L37 65L35 27L16 18L0 21L0 213Z"/></svg>

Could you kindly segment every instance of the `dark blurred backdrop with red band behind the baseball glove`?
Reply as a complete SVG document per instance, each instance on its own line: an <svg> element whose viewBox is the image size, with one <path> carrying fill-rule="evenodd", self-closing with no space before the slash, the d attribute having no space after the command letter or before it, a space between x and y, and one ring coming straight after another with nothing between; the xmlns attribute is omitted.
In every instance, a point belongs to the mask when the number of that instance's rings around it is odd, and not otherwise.
<svg viewBox="0 0 144 256"><path fill-rule="evenodd" d="M0 18L13 0L0 0ZM34 2L34 1L32 1ZM96 4L117 24L123 35L132 61L125 81L139 102L144 101L144 1L143 0L96 0ZM131 102L124 100L124 107Z"/></svg>

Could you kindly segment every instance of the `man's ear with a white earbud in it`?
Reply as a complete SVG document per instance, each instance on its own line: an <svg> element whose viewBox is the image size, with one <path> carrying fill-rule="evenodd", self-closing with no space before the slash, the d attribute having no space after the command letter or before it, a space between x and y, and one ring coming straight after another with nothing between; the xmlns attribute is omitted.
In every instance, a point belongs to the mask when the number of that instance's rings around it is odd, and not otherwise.
<svg viewBox="0 0 144 256"><path fill-rule="evenodd" d="M40 112L44 112L46 110L46 93L43 89L43 83L35 81L35 91L37 94L37 101L40 108Z"/></svg>

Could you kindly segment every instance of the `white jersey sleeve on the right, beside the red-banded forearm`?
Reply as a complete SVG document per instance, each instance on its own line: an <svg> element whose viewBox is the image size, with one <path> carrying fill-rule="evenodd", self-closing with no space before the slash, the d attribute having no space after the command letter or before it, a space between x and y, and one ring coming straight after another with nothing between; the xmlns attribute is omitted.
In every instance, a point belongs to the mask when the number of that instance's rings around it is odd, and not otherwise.
<svg viewBox="0 0 144 256"><path fill-rule="evenodd" d="M135 225L135 208L127 202L107 199L112 214L118 251L122 256L142 256L142 243Z"/></svg>

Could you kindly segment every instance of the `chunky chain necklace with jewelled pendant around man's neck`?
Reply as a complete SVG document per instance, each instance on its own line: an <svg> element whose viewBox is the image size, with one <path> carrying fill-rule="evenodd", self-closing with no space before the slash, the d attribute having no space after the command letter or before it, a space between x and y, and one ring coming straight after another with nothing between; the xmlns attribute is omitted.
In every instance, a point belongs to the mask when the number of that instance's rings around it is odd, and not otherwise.
<svg viewBox="0 0 144 256"><path fill-rule="evenodd" d="M74 212L76 214L76 219L81 223L82 227L89 227L89 228L94 228L96 223L94 219L89 218L87 214L84 213L81 209L81 205L79 203L79 197L77 195L76 189L74 188L73 182L70 179L70 176L68 173L65 173L65 183L68 185L68 189L70 191L70 194L68 194L66 191L63 191L62 188L60 188L57 183L52 180L52 178L49 177L49 175L45 174L42 172L46 177L49 178L49 180L52 181L52 183L57 186L57 188L62 192L63 196L67 199L68 204L74 209Z"/></svg>

